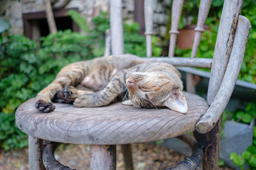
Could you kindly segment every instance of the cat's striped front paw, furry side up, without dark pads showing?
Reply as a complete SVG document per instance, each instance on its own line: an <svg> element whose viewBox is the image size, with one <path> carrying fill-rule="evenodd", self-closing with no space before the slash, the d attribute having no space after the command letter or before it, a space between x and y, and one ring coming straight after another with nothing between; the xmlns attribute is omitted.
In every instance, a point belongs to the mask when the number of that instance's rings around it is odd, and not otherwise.
<svg viewBox="0 0 256 170"><path fill-rule="evenodd" d="M97 107L95 104L95 98L93 96L94 95L92 94L85 94L85 95L79 96L78 98L75 98L73 105L78 108Z"/></svg>

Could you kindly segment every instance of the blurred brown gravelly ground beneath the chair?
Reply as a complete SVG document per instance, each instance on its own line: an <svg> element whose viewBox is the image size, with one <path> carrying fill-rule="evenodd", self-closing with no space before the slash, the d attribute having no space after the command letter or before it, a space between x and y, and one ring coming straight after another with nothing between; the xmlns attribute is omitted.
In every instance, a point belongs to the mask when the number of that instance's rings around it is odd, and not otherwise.
<svg viewBox="0 0 256 170"><path fill-rule="evenodd" d="M124 170L122 154L117 146L117 169ZM155 170L166 169L185 159L182 154L177 154L172 149L166 149L155 144L142 143L132 145L134 169ZM90 169L90 151L88 145L60 145L55 152L55 158L62 164L73 169ZM0 169L25 170L28 166L28 149L11 152L0 151ZM32 169L33 170L33 169ZM220 170L232 170L227 166Z"/></svg>

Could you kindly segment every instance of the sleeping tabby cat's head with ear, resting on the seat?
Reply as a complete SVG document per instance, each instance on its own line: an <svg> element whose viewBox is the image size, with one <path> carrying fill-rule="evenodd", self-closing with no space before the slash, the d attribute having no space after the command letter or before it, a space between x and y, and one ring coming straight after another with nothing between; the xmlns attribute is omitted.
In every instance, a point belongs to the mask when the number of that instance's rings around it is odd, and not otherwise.
<svg viewBox="0 0 256 170"><path fill-rule="evenodd" d="M166 72L133 72L126 86L134 107L168 107L173 111L187 113L188 106L182 92L183 85L177 74Z"/></svg>

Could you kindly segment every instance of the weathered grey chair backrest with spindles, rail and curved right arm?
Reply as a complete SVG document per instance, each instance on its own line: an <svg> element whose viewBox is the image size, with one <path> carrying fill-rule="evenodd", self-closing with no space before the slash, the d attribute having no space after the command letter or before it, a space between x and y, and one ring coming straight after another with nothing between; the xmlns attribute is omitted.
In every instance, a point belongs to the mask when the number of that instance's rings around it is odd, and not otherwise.
<svg viewBox="0 0 256 170"><path fill-rule="evenodd" d="M225 109L225 106L220 103L228 103L240 71L247 43L247 36L250 31L250 21L248 21L244 16L240 16L242 2L242 0L224 2L217 40L215 42L213 60L196 58L198 46L201 41L201 35L204 32L203 25L208 16L211 0L202 0L200 2L198 22L195 28L196 33L190 59L185 57L174 57L174 49L178 35L178 23L181 18L183 0L173 0L172 2L171 30L169 31L169 57L168 59L167 57L165 57L165 59L161 58L161 60L164 62L170 62L175 66L211 68L207 96L210 111L209 113L207 112L198 123L198 125L200 123L202 125L200 127L198 126L198 129L200 129L201 132L207 132L209 127L212 128L220 118L221 113ZM153 0L144 0L146 57L149 58L151 57L153 13ZM110 0L110 23L112 54L119 55L124 52L124 39L122 34L122 0ZM151 58L149 60L158 61L158 59L155 58ZM222 91L222 94L224 93L226 95L224 98L220 95L220 91ZM218 98L218 101L215 100L216 97ZM213 113L216 107L220 109L220 111L218 111L218 113ZM209 118L212 118L212 120L209 121Z"/></svg>

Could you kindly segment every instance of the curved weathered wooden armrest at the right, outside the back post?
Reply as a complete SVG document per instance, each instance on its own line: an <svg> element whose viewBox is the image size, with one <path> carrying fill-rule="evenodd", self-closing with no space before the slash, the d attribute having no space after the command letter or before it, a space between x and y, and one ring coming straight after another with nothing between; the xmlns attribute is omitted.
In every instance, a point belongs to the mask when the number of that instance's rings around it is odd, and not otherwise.
<svg viewBox="0 0 256 170"><path fill-rule="evenodd" d="M210 131L219 120L225 107L228 104L235 82L238 79L242 60L245 54L245 47L247 44L248 35L250 32L250 21L244 16L239 16L238 30L236 31L233 49L230 54L223 81L218 89L213 103L211 103L208 111L196 124L196 130L200 133Z"/></svg>

